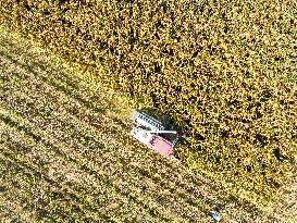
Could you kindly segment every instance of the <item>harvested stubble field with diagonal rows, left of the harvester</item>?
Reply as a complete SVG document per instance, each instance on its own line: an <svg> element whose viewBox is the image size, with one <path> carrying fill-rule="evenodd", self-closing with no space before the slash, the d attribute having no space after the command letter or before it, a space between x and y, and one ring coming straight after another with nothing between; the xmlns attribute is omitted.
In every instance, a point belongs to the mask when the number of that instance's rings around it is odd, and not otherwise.
<svg viewBox="0 0 297 223"><path fill-rule="evenodd" d="M128 136L132 103L0 29L3 222L272 221ZM276 221L276 220L275 220Z"/></svg>

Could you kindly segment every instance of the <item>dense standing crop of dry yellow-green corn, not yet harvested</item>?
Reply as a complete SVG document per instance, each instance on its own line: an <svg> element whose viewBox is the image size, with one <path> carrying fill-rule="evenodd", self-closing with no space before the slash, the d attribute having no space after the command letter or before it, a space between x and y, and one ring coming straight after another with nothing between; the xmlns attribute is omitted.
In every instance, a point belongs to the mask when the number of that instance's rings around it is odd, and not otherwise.
<svg viewBox="0 0 297 223"><path fill-rule="evenodd" d="M263 200L293 177L295 1L0 2L2 23L171 116L189 166Z"/></svg>

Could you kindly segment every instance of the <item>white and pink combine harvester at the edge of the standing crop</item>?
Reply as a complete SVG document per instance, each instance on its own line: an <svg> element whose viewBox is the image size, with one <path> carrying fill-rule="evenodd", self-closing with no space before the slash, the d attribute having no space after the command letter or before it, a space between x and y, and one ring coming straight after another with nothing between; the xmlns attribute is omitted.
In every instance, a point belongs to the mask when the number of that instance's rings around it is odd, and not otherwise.
<svg viewBox="0 0 297 223"><path fill-rule="evenodd" d="M135 124L131 132L134 138L165 157L172 157L181 134L176 131L165 131L160 121L144 112L135 111L132 120Z"/></svg>

